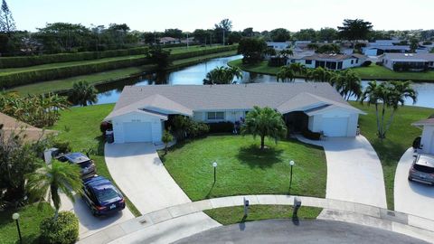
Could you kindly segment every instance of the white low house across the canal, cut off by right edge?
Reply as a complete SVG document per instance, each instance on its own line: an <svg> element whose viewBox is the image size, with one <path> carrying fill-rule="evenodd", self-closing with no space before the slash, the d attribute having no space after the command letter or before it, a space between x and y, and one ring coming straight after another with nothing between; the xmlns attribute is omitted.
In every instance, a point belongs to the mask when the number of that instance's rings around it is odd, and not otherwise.
<svg viewBox="0 0 434 244"><path fill-rule="evenodd" d="M390 70L395 70L395 65L412 71L433 69L434 53L386 53L382 55L382 65Z"/></svg>

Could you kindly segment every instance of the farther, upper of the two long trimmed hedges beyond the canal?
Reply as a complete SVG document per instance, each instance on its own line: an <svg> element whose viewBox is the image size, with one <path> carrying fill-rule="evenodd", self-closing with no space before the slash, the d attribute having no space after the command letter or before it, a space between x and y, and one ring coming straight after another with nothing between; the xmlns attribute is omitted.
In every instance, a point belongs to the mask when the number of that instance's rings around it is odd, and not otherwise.
<svg viewBox="0 0 434 244"><path fill-rule="evenodd" d="M0 69L5 68L22 68L33 65L42 65L54 62L65 61L90 61L103 58L122 57L130 55L146 54L149 51L147 47L132 49L110 50L104 52L76 52L76 53L59 53L49 55L35 55L25 57L4 57L0 58Z"/></svg>

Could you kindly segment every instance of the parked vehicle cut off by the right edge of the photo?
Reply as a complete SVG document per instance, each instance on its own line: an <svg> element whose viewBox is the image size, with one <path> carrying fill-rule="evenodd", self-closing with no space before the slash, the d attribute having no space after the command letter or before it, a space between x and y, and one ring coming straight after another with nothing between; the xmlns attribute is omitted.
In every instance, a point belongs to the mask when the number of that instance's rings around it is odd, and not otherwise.
<svg viewBox="0 0 434 244"><path fill-rule="evenodd" d="M434 185L434 156L415 157L410 167L409 181Z"/></svg>

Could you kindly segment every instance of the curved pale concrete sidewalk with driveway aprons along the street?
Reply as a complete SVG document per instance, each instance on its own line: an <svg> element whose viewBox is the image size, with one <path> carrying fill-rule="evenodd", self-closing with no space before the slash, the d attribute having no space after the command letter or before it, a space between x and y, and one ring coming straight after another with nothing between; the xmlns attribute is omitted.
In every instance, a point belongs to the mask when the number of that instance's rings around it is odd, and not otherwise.
<svg viewBox="0 0 434 244"><path fill-rule="evenodd" d="M203 218L205 214L202 211L241 206L243 198L248 199L251 205L292 205L294 202L294 196L290 195L241 195L189 202L150 212L136 219L117 224L88 238L80 239L79 243L174 242L203 230L221 226L215 221L207 221L206 218ZM302 206L323 208L324 211L318 216L318 219L321 220L346 221L382 230L392 230L430 242L434 239L434 221L428 219L356 202L303 196L299 198L302 201ZM176 231L179 228L184 228L182 230L187 232L180 234L179 231Z"/></svg>

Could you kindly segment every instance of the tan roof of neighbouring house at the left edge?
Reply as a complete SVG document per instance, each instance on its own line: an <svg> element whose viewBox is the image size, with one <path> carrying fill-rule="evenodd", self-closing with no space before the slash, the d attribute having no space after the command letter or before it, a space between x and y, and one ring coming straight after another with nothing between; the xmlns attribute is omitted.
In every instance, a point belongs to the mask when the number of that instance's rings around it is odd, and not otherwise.
<svg viewBox="0 0 434 244"><path fill-rule="evenodd" d="M21 122L14 117L7 116L0 113L0 125L3 125L3 132L5 136L14 134L24 137L24 141L31 142L41 139L43 136L56 133L53 130L43 130L37 127L32 127L24 122Z"/></svg>

